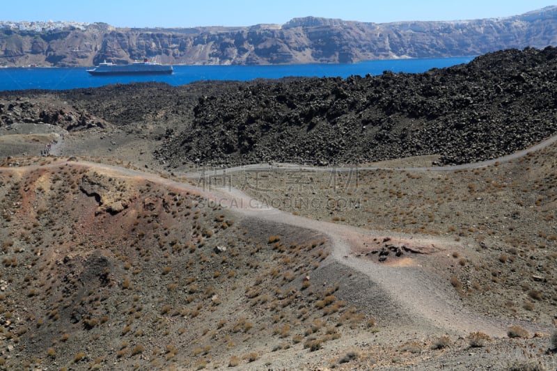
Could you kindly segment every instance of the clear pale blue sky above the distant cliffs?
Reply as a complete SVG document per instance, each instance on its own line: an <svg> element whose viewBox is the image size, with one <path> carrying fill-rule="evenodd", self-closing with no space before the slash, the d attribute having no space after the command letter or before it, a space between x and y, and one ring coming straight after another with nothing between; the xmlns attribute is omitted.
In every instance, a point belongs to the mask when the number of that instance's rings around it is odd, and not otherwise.
<svg viewBox="0 0 557 371"><path fill-rule="evenodd" d="M556 4L543 0L2 0L0 20L191 27L283 24L313 15L382 23L507 17Z"/></svg>

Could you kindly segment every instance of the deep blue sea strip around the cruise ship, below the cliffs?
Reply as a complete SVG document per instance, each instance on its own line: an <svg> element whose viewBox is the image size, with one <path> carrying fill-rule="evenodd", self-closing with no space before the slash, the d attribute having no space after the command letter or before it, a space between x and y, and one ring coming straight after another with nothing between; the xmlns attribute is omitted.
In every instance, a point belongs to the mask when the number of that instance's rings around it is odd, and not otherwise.
<svg viewBox="0 0 557 371"><path fill-rule="evenodd" d="M425 72L468 63L473 57L395 59L350 64L175 65L170 75L91 76L87 68L0 68L0 90L93 88L109 84L161 81L173 86L201 80L279 79L281 77L349 77L392 72Z"/></svg>

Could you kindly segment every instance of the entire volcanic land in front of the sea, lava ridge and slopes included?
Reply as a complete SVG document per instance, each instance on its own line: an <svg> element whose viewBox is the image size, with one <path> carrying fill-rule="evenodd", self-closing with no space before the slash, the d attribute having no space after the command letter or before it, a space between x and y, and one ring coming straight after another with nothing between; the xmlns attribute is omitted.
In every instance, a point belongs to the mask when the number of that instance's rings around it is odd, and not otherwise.
<svg viewBox="0 0 557 371"><path fill-rule="evenodd" d="M556 63L0 92L0 370L554 370Z"/></svg>

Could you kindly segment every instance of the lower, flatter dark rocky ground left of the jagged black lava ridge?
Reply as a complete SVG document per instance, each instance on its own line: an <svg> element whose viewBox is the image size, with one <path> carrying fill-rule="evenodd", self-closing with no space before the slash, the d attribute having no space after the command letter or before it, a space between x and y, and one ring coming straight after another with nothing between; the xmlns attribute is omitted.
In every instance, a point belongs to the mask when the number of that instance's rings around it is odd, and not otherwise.
<svg viewBox="0 0 557 371"><path fill-rule="evenodd" d="M68 131L136 124L180 127L193 117L198 97L235 88L233 81L198 81L180 87L134 83L72 90L0 91L0 127L51 124Z"/></svg>

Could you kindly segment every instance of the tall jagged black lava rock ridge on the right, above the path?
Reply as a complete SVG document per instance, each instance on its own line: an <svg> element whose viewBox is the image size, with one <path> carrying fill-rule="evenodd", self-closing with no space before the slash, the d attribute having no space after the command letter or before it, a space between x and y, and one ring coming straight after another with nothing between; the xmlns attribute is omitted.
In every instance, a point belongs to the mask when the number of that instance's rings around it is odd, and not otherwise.
<svg viewBox="0 0 557 371"><path fill-rule="evenodd" d="M557 132L557 49L511 49L423 74L236 84L200 97L157 155L173 166L492 159Z"/></svg>

